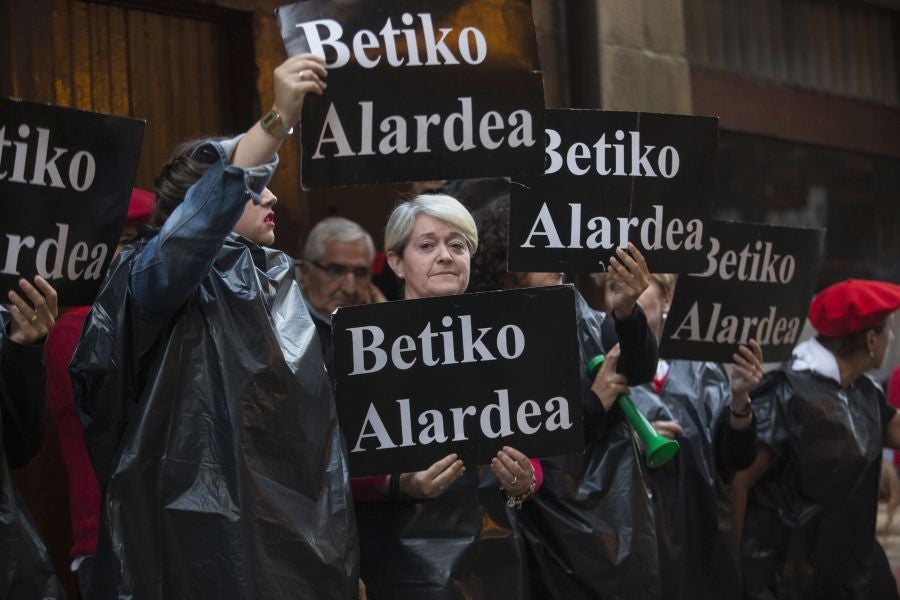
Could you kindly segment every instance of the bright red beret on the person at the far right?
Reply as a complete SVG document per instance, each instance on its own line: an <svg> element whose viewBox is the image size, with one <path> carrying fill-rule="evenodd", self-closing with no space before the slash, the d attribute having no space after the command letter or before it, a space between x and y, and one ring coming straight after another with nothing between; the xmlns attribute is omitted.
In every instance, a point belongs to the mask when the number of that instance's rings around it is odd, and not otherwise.
<svg viewBox="0 0 900 600"><path fill-rule="evenodd" d="M877 325L900 308L900 285L848 279L828 286L809 305L809 320L826 337Z"/></svg>

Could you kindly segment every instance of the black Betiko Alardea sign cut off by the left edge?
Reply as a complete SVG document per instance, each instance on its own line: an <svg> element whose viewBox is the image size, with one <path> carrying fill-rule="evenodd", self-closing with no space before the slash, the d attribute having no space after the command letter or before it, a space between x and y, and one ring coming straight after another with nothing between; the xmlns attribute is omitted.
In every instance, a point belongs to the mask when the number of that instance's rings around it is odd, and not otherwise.
<svg viewBox="0 0 900 600"><path fill-rule="evenodd" d="M125 223L144 121L0 107L0 288L40 275L60 304L90 304Z"/></svg>

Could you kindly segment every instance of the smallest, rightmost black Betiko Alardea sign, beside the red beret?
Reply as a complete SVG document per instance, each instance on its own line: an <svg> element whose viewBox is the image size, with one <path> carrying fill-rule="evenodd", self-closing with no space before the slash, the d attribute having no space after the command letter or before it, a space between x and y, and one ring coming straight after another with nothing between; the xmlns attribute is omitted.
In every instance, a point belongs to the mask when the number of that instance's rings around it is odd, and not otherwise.
<svg viewBox="0 0 900 600"><path fill-rule="evenodd" d="M766 362L787 360L824 249L824 229L713 221L704 269L678 278L660 356L733 362L755 339Z"/></svg>

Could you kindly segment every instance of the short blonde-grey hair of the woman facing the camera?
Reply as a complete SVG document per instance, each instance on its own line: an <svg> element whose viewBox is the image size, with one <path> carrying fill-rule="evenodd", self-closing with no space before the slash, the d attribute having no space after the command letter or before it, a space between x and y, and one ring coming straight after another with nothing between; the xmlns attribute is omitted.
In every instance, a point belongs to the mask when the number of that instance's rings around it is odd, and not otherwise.
<svg viewBox="0 0 900 600"><path fill-rule="evenodd" d="M419 215L428 215L452 226L465 238L469 254L475 254L478 249L478 228L472 214L459 200L444 194L422 194L409 202L398 204L384 228L385 251L403 256L403 249L409 242Z"/></svg>

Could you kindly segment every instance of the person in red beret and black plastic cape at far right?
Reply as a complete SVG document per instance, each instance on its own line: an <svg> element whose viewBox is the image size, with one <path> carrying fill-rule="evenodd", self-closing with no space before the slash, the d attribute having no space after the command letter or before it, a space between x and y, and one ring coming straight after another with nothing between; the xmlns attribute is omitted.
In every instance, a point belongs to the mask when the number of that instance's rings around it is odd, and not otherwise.
<svg viewBox="0 0 900 600"><path fill-rule="evenodd" d="M809 310L818 336L753 394L762 447L735 490L747 598L883 597L870 586L878 478L900 417L866 372L881 366L898 308L897 285L824 289Z"/></svg>

